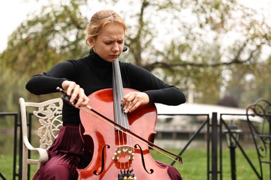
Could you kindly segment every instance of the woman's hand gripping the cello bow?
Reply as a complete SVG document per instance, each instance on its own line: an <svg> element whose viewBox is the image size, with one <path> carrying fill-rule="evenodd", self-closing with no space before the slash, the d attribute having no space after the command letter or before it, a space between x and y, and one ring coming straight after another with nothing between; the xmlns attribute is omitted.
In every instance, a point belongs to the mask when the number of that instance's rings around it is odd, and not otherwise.
<svg viewBox="0 0 271 180"><path fill-rule="evenodd" d="M62 83L62 88L66 91L67 96L70 96L69 102L76 108L88 105L90 100L85 96L85 91L73 81L65 80ZM74 104L75 103L75 104Z"/></svg>

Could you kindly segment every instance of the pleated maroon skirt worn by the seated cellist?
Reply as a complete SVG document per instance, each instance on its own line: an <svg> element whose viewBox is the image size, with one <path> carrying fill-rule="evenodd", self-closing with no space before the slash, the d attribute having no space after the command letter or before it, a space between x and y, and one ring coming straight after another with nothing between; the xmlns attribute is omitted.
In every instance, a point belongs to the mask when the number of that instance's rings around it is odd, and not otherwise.
<svg viewBox="0 0 271 180"><path fill-rule="evenodd" d="M40 166L33 179L77 179L76 168L84 168L92 157L89 152L84 152L83 147L79 125L63 125L48 150L49 161ZM181 174L172 165L156 162L168 168L171 179L181 179Z"/></svg>

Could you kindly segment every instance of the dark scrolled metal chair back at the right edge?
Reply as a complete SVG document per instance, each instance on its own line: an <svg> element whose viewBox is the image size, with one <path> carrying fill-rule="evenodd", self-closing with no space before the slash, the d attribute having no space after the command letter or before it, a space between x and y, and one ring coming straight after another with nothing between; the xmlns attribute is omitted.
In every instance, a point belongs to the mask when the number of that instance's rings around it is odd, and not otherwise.
<svg viewBox="0 0 271 180"><path fill-rule="evenodd" d="M256 126L251 120L255 116L262 118L262 123L260 126ZM249 125L250 132L256 147L256 152L258 155L258 163L260 166L260 173L258 173L258 178L263 179L263 163L269 163L271 170L271 103L265 99L258 99L254 104L247 107L247 123ZM270 174L271 179L271 174Z"/></svg>

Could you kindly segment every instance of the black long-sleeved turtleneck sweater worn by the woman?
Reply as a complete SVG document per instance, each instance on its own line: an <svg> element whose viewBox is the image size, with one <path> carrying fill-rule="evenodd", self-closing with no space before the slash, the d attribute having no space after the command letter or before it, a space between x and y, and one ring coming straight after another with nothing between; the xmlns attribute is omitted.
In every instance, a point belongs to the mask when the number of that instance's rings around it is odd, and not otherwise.
<svg viewBox="0 0 271 180"><path fill-rule="evenodd" d="M183 93L176 87L166 84L149 71L139 66L120 62L124 88L144 91L150 102L165 105L180 105L186 102ZM71 80L84 89L85 95L106 88L112 88L113 64L90 51L90 55L79 60L67 60L56 64L42 75L34 75L26 84L26 89L36 95L54 93L65 80ZM79 124L79 109L63 103L63 122Z"/></svg>

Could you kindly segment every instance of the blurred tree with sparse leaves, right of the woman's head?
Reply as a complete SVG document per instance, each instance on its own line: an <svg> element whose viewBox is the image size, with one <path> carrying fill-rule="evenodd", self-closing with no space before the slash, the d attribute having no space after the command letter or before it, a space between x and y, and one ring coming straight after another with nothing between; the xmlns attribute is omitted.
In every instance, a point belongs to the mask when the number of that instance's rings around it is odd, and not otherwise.
<svg viewBox="0 0 271 180"><path fill-rule="evenodd" d="M166 15L156 24L164 21L168 22L165 26L174 24L165 30L165 37L170 37L162 38L168 42L160 48L163 51L155 48L155 44L151 46L151 42L156 42L156 35L151 33L155 32L151 28L154 25L144 21L148 15L143 12L154 17ZM158 72L163 79L188 91L194 85L195 91L202 94L198 102L216 103L220 97L217 92L227 84L224 72L233 74L234 67L244 73L252 71L261 61L262 47L270 46L271 42L268 15L261 17L238 1L183 0L162 4L145 0L138 17L138 34L129 39L135 62L141 60L140 65L149 71L162 69ZM140 46L139 42L146 43ZM142 47L146 44L149 52L142 61L145 52Z"/></svg>

